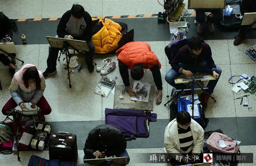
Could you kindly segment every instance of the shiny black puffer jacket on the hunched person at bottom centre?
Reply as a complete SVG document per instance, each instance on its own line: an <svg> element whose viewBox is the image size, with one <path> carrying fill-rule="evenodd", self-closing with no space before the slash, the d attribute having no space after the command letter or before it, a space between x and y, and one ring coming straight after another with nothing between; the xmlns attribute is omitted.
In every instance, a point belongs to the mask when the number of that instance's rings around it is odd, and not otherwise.
<svg viewBox="0 0 256 166"><path fill-rule="evenodd" d="M111 146L104 146L100 141L100 131L109 130L113 133L113 144ZM92 129L88 134L85 142L84 154L94 158L93 153L99 150L100 152L105 152L106 156L112 156L119 154L126 149L126 140L120 129L113 125L99 125Z"/></svg>

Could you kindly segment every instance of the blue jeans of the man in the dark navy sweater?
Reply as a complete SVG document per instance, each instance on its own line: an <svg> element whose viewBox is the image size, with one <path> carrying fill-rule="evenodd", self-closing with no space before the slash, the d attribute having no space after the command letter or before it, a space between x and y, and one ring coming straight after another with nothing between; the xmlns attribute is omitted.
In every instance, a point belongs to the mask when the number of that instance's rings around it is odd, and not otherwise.
<svg viewBox="0 0 256 166"><path fill-rule="evenodd" d="M192 73L207 73L207 74L212 74L212 71L208 68L206 61L201 62L200 64L198 64L197 66L192 66L192 65L186 65L186 64L182 64L179 63L179 65L185 69L185 70L190 70ZM219 76L221 75L221 69L219 66L216 65L216 73L219 74ZM178 76L180 76L182 74L176 72L173 68L170 69L167 74L165 75L165 80L167 83L169 83L171 86L173 86L176 89L182 89L185 87L185 84L183 83L178 83L175 84L174 79ZM209 94L213 93L213 90L217 84L217 82L219 81L219 79L217 80L210 80L209 83L207 84L207 88L206 92L208 92Z"/></svg>

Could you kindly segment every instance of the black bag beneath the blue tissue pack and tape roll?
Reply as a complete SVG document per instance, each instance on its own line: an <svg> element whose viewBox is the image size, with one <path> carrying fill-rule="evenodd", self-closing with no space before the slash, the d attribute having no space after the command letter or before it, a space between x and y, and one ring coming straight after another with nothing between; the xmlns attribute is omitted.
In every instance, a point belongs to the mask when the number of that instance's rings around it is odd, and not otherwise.
<svg viewBox="0 0 256 166"><path fill-rule="evenodd" d="M241 0L227 0L226 7L223 12L225 12L227 6L233 8L233 12L230 17L222 15L222 20L220 21L220 30L221 31L237 31L240 27L240 19L237 19L235 15L240 12Z"/></svg>

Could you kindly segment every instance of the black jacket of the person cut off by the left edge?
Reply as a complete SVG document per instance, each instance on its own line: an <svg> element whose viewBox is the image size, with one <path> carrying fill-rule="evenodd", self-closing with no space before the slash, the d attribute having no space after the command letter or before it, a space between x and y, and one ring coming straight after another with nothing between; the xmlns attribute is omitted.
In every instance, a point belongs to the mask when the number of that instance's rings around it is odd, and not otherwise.
<svg viewBox="0 0 256 166"><path fill-rule="evenodd" d="M0 12L0 40L8 35L12 38L12 25L7 16Z"/></svg>

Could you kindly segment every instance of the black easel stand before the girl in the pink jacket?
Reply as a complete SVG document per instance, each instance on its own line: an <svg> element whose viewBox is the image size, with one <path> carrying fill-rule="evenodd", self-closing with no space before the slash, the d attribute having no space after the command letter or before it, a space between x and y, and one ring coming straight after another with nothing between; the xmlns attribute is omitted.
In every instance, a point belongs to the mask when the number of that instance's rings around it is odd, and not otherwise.
<svg viewBox="0 0 256 166"><path fill-rule="evenodd" d="M30 110L28 110L28 111L30 111ZM17 159L18 159L18 161L20 161L20 155L19 155L19 140L18 140L18 137L17 137L17 132L18 132L19 126L20 126L20 125L19 125L19 119L20 119L20 117L22 117L22 116L26 116L26 117L29 117L30 119L33 119L32 116L25 115L25 114L22 113L22 112L28 112L28 111L19 111L19 110L16 110L16 109L11 109L11 111L8 111L8 112L7 112L8 115L7 115L6 118L2 121L2 122L4 122L4 121L6 121L7 119L9 119L10 121L13 122L13 130L14 130L14 138L15 138L15 140L13 140L13 142L16 141L16 145L17 145ZM33 110L33 111L35 111L35 110ZM37 111L39 111L39 110L37 110ZM12 119L10 118L10 116L12 116ZM38 122L40 122L40 123L45 124L45 122L42 122L42 121L39 121L39 120L35 120L35 121L38 121ZM16 125L18 126L17 129L16 129Z"/></svg>

